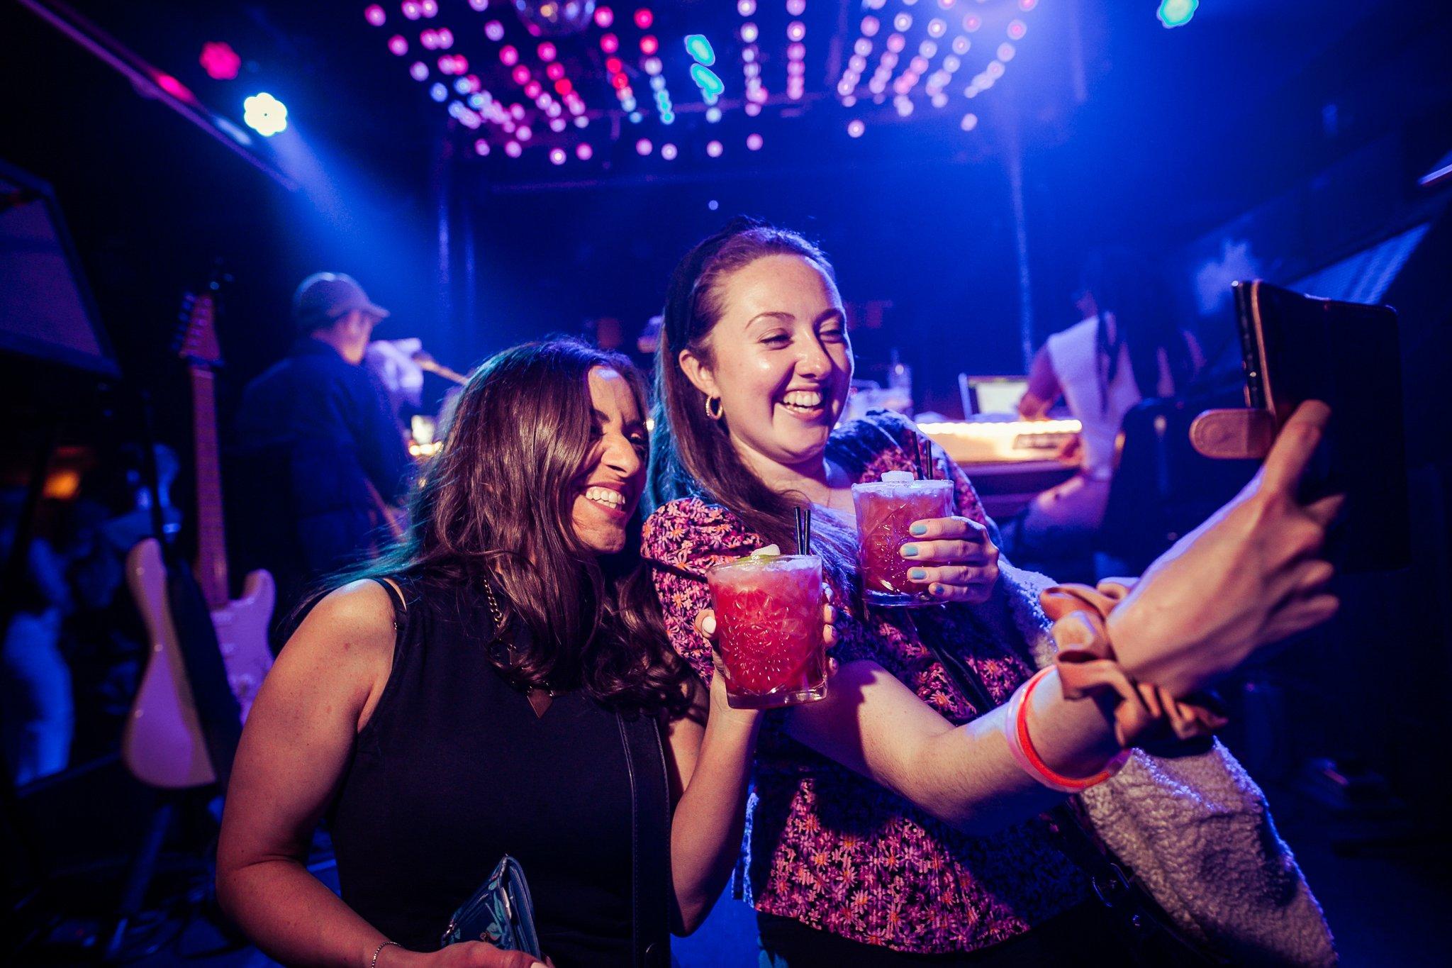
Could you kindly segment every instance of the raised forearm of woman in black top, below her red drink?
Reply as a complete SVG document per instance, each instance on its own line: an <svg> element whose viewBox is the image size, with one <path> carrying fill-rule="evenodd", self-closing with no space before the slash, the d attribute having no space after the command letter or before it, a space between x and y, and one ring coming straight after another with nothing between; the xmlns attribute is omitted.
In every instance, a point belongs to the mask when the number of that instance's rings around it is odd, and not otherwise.
<svg viewBox="0 0 1452 968"><path fill-rule="evenodd" d="M671 878L688 935L720 897L741 853L746 789L761 717L713 704L691 779L671 820Z"/></svg>

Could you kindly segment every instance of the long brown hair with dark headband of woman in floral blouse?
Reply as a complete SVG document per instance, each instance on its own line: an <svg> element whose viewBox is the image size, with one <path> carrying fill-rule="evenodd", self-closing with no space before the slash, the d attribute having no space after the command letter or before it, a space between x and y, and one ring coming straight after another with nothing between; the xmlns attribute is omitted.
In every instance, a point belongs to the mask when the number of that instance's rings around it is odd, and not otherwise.
<svg viewBox="0 0 1452 968"><path fill-rule="evenodd" d="M706 414L706 395L681 370L681 350L707 364L707 341L720 322L720 284L732 273L767 255L799 255L833 283L832 263L802 235L765 222L735 218L687 253L671 274L665 296L661 343L655 358L655 428L650 435L650 473L646 498L652 508L678 498L700 496L723 505L770 544L796 547L793 509L804 495L768 488L742 462L726 432L726 419ZM729 417L727 417L729 419ZM831 515L813 522L813 551L844 588L852 583L855 541Z"/></svg>

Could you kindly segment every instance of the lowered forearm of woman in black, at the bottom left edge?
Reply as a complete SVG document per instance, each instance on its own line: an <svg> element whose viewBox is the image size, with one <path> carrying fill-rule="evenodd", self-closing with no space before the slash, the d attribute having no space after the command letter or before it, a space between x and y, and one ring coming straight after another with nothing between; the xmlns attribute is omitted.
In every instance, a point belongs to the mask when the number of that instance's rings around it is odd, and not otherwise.
<svg viewBox="0 0 1452 968"><path fill-rule="evenodd" d="M272 958L285 965L369 968L382 933L343 903L296 859L224 869L216 878L222 910ZM379 968L401 953L388 948Z"/></svg>

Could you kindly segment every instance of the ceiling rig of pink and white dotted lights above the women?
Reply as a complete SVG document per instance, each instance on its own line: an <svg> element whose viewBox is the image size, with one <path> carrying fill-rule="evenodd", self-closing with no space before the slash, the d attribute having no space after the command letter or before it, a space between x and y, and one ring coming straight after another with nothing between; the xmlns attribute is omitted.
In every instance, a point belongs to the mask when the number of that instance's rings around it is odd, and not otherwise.
<svg viewBox="0 0 1452 968"><path fill-rule="evenodd" d="M845 113L833 122L844 144L889 123L973 132L971 102L1003 78L1038 6L854 0L835 36L841 9L825 0L735 0L733 23L720 19L730 6L653 1L388 0L363 4L359 29L469 132L476 155L549 170L709 164L730 145L767 151L771 125L832 110ZM677 103L680 84L694 91Z"/></svg>

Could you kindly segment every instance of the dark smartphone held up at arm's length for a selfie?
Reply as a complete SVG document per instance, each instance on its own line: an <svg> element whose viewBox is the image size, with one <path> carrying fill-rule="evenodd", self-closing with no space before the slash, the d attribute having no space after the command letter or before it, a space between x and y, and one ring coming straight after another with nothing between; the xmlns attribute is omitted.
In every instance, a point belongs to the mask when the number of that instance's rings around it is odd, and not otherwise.
<svg viewBox="0 0 1452 968"><path fill-rule="evenodd" d="M1279 430L1308 399L1331 422L1302 480L1302 498L1345 493L1329 538L1343 572L1411 560L1401 348L1391 306L1316 299L1265 282L1234 283L1246 403Z"/></svg>

